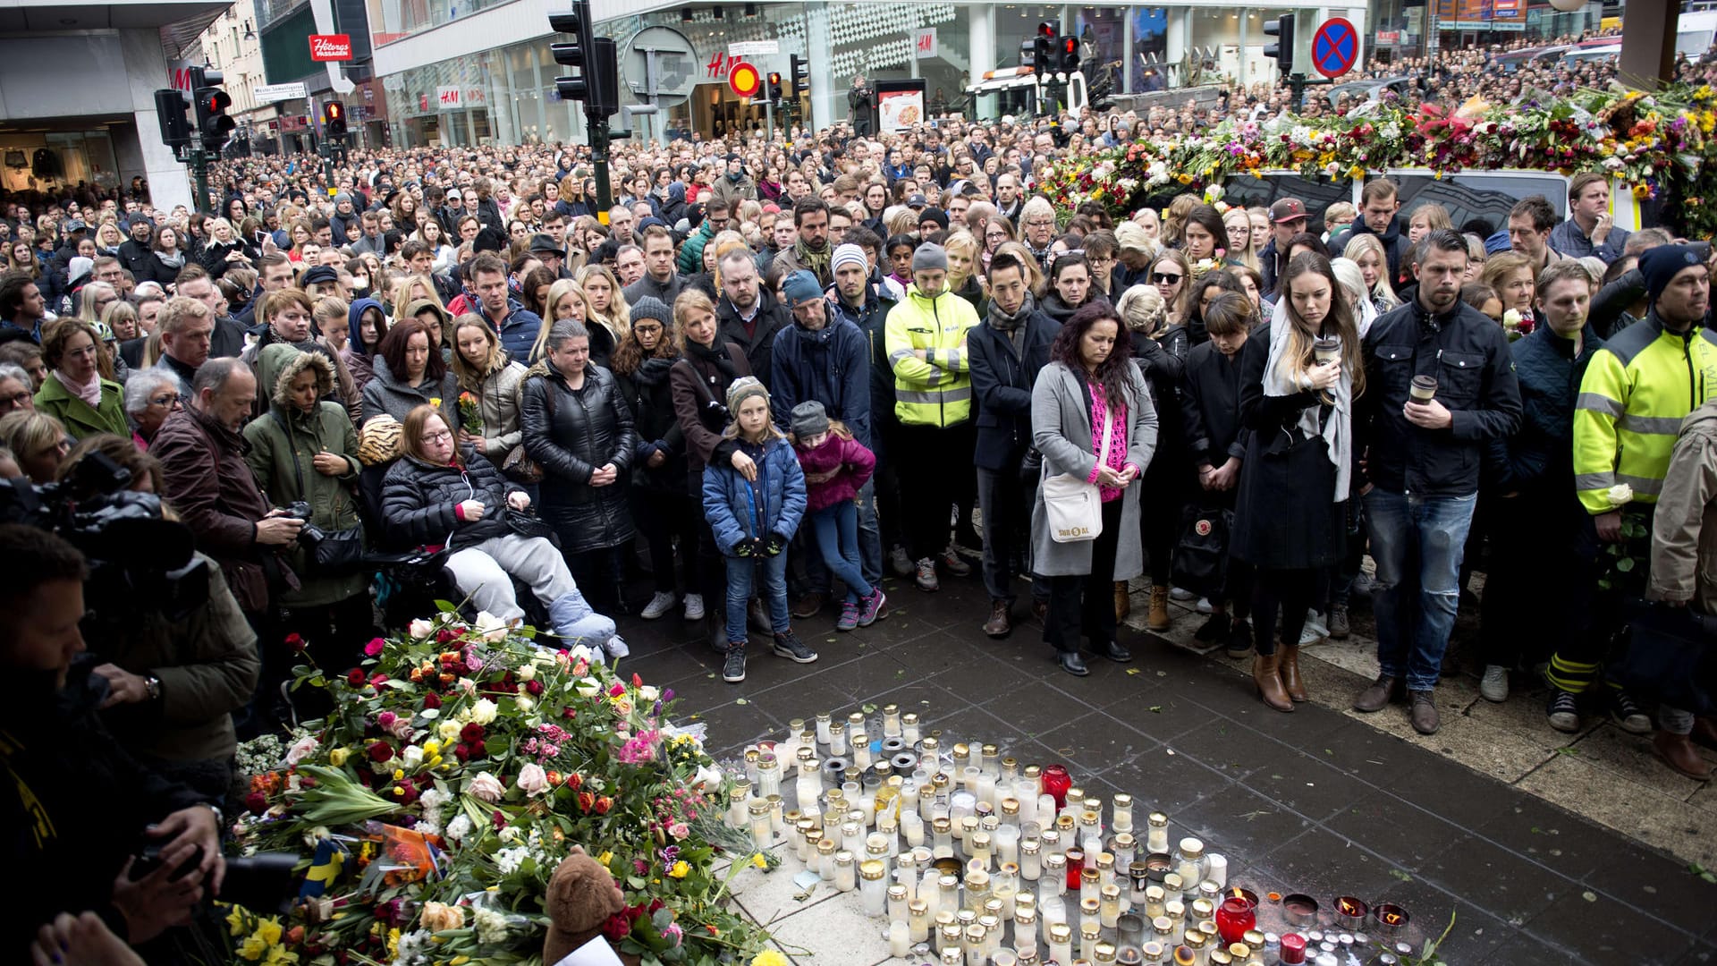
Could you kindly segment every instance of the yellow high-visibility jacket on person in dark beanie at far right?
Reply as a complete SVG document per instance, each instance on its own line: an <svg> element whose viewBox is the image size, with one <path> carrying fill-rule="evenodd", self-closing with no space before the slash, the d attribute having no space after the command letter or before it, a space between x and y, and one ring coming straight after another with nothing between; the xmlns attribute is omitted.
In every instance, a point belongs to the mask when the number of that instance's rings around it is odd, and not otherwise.
<svg viewBox="0 0 1717 966"><path fill-rule="evenodd" d="M1607 490L1633 488L1655 504L1681 421L1717 395L1717 332L1664 328L1657 311L1592 356L1574 402L1574 488L1590 514L1616 507Z"/></svg>

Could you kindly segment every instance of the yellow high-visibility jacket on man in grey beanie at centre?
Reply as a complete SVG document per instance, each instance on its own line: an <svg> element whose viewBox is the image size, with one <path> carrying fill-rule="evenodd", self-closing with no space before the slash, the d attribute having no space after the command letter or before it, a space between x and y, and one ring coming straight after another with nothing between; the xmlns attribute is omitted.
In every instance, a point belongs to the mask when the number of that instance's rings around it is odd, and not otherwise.
<svg viewBox="0 0 1717 966"><path fill-rule="evenodd" d="M917 285L888 311L883 342L895 370L895 416L908 426L958 426L972 418L972 363L967 330L977 309L943 290L927 297ZM913 352L925 351L920 359Z"/></svg>

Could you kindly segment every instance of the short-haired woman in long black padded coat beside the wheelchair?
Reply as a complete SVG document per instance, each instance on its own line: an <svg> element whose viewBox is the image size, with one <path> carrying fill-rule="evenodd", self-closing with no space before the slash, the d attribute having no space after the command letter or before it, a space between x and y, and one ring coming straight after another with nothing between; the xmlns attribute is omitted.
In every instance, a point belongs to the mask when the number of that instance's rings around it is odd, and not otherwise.
<svg viewBox="0 0 1717 966"><path fill-rule="evenodd" d="M549 330L548 354L525 373L519 425L543 468L543 519L592 603L613 612L623 603L623 548L635 533L627 471L637 433L615 376L591 364L591 332L577 321Z"/></svg>

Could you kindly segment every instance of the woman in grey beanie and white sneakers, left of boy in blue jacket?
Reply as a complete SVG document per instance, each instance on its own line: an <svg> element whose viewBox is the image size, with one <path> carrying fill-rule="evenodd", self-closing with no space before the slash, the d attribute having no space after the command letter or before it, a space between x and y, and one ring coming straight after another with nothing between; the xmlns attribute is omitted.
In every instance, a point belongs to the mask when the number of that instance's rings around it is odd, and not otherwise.
<svg viewBox="0 0 1717 966"><path fill-rule="evenodd" d="M654 621L680 602L673 581L673 538L680 538L680 567L685 583L685 619L704 619L704 595L697 584L697 526L702 507L690 498L685 480L685 433L673 411L668 373L680 359L673 309L652 296L632 306L632 328L615 349L610 370L620 397L632 409L637 447L632 473L632 519L649 543L656 593L642 610Z"/></svg>

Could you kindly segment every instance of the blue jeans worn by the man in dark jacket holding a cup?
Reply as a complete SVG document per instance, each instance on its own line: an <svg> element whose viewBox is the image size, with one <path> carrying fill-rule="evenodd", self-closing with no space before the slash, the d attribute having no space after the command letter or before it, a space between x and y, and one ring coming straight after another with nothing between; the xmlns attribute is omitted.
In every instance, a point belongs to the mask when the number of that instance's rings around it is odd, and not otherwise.
<svg viewBox="0 0 1717 966"><path fill-rule="evenodd" d="M1471 497L1408 497L1372 490L1365 523L1377 578L1377 663L1384 677L1429 691L1442 674L1442 651L1461 602L1461 553L1473 526ZM1417 595L1417 596L1413 596Z"/></svg>

